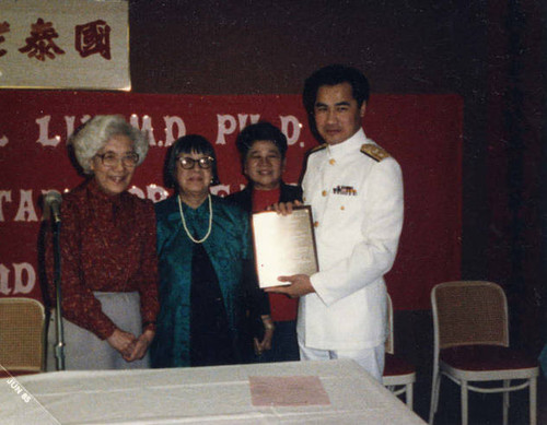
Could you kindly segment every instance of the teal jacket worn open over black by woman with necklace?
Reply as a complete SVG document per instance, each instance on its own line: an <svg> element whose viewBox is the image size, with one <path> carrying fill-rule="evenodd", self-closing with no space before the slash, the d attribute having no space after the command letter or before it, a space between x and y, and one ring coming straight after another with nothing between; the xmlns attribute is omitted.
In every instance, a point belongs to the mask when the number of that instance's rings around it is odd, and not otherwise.
<svg viewBox="0 0 547 425"><path fill-rule="evenodd" d="M238 206L212 197L212 231L203 243L224 298L229 328L240 346L247 308L260 292L248 282L252 264L249 221ZM202 238L209 227L209 202L197 210L183 203L188 231ZM151 346L152 367L190 366L190 286L194 243L184 229L177 197L155 205L160 273L160 314ZM253 274L253 273L252 273ZM245 282L246 283L245 283ZM256 305L255 305L256 307Z"/></svg>

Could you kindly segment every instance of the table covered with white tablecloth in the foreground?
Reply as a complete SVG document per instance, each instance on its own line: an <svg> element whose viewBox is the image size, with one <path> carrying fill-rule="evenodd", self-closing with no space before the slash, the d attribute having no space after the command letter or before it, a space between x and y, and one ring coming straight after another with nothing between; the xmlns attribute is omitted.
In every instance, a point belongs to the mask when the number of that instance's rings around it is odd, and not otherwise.
<svg viewBox="0 0 547 425"><path fill-rule="evenodd" d="M317 376L328 405L255 406L252 376ZM44 373L0 380L0 424L424 422L352 361Z"/></svg>

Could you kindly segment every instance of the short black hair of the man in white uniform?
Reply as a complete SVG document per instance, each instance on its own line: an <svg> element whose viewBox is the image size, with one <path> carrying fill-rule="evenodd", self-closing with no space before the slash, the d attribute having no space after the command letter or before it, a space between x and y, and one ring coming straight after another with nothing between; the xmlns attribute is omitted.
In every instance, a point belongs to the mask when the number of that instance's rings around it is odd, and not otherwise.
<svg viewBox="0 0 547 425"><path fill-rule="evenodd" d="M302 99L307 114L313 114L317 91L323 85L351 84L351 93L360 108L370 97L370 84L366 76L356 68L344 64L329 64L310 75L304 83Z"/></svg>

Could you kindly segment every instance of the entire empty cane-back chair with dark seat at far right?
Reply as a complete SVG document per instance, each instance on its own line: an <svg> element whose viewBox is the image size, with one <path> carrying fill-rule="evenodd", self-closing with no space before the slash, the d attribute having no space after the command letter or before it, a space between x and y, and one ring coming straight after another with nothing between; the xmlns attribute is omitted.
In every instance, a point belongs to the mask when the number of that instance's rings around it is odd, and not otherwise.
<svg viewBox="0 0 547 425"><path fill-rule="evenodd" d="M529 388L529 423L536 425L538 363L509 349L508 303L491 282L446 282L431 292L434 327L433 381L429 423L439 405L441 377L461 387L462 424L467 425L467 392L503 393L503 424L509 392ZM511 380L519 380L512 385ZM502 381L484 387L472 382Z"/></svg>

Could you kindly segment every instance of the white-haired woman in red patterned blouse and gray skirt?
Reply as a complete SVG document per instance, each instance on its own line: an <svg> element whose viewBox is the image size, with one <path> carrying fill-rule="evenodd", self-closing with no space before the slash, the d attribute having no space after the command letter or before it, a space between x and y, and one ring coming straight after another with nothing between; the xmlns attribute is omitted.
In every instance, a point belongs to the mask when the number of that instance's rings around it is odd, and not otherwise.
<svg viewBox="0 0 547 425"><path fill-rule="evenodd" d="M61 204L66 368L148 367L159 310L155 216L151 201L127 192L147 156L147 138L120 116L95 116L70 144L88 178ZM51 251L46 263L54 302ZM48 369L55 368L54 320Z"/></svg>

